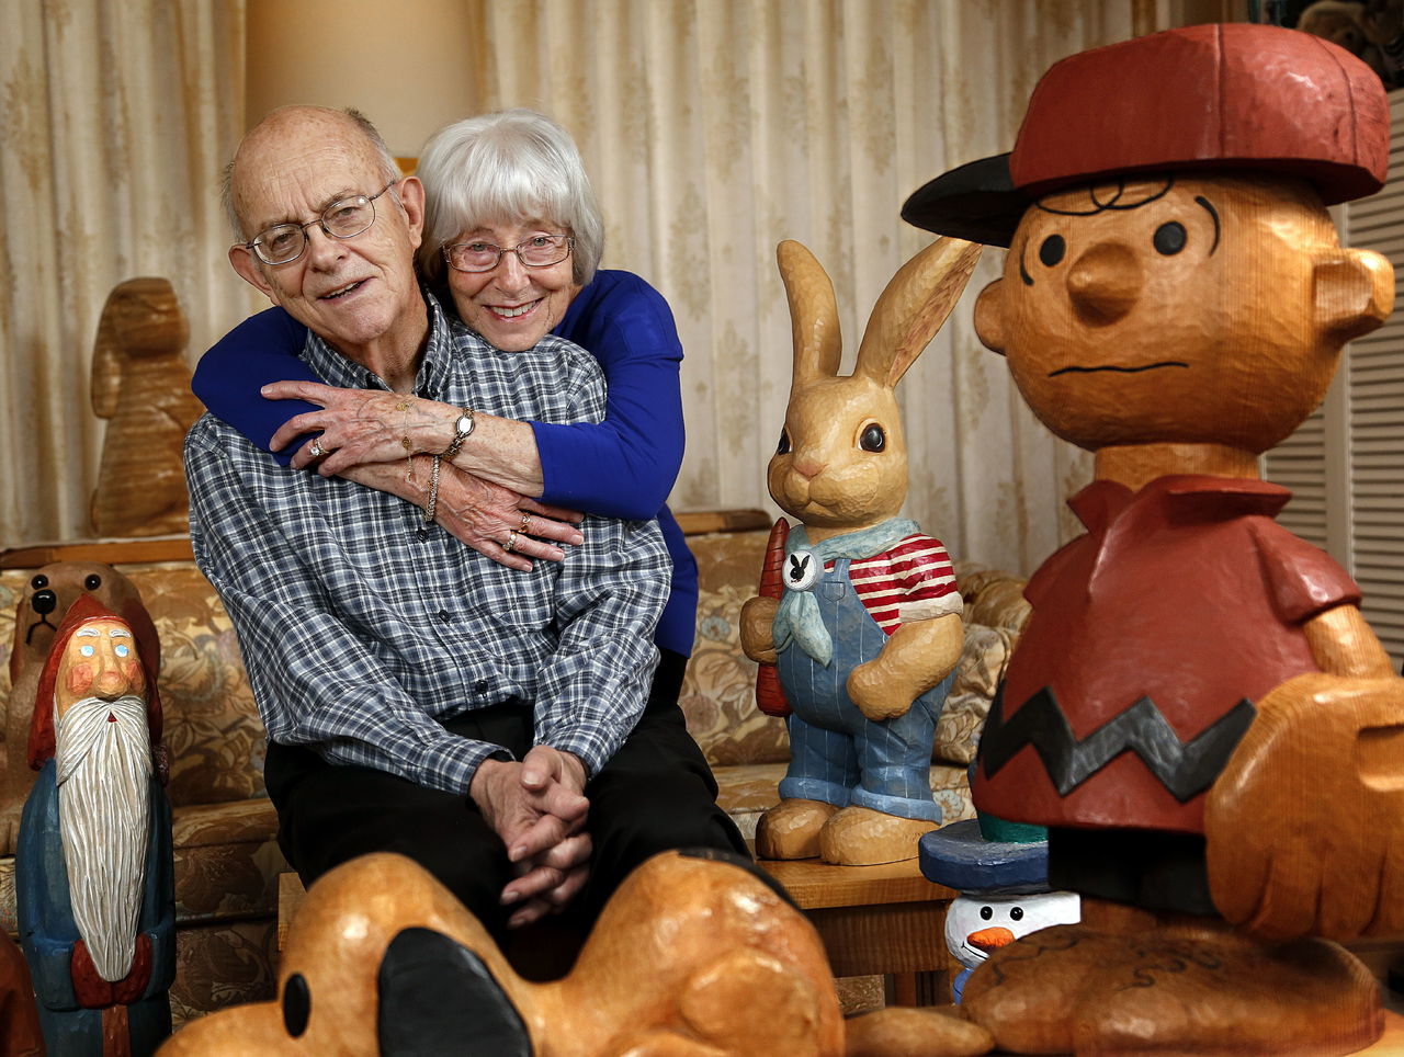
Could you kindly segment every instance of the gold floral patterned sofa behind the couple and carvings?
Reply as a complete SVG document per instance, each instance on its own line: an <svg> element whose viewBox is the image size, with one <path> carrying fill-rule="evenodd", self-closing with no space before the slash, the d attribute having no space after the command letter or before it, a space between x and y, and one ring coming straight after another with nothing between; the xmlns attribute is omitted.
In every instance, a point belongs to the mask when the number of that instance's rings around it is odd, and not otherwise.
<svg viewBox="0 0 1404 1057"><path fill-rule="evenodd" d="M698 639L684 685L688 724L717 775L722 803L747 835L776 802L788 744L782 722L755 710L755 665L739 646L768 535L760 511L680 515L701 573ZM160 693L174 807L177 1022L271 998L277 966L278 851L263 785L264 734L218 595L188 539L28 547L0 553L0 695L14 611L32 571L53 560L108 561L140 590L161 637ZM932 789L946 820L970 814L966 766L1026 604L1022 583L958 567L966 651L942 717ZM14 860L0 858L0 926L15 931Z"/></svg>

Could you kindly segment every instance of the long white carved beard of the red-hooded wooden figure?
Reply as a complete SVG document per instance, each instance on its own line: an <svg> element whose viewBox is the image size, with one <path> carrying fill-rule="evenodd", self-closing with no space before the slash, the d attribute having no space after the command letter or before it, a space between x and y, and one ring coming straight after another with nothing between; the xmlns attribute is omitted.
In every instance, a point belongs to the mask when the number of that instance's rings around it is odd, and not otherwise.
<svg viewBox="0 0 1404 1057"><path fill-rule="evenodd" d="M98 976L112 983L132 969L142 911L152 773L146 702L88 698L70 706L55 719L55 764L73 919Z"/></svg>

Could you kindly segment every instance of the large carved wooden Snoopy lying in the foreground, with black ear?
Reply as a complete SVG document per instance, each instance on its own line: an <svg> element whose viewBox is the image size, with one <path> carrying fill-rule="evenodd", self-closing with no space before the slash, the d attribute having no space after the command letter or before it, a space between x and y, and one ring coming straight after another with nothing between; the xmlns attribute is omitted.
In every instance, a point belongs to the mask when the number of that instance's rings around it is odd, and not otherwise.
<svg viewBox="0 0 1404 1057"><path fill-rule="evenodd" d="M813 925L753 863L664 852L615 891L563 980L522 980L423 867L376 853L307 891L279 998L211 1013L161 1057L973 1057L935 1011L840 1013Z"/></svg>

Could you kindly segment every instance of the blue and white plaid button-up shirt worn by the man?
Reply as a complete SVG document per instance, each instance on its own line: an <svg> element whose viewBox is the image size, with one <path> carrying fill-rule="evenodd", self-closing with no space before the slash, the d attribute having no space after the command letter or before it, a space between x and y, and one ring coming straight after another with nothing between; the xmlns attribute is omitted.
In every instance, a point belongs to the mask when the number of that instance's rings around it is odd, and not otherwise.
<svg viewBox="0 0 1404 1057"><path fill-rule="evenodd" d="M501 352L425 298L420 396L548 423L604 416L600 368L578 347L548 335ZM302 355L330 385L386 387L316 335ZM278 466L209 414L185 441L185 472L195 557L274 741L466 793L483 759L508 754L441 720L519 699L536 743L574 752L591 775L637 722L668 594L656 522L587 517L563 563L521 573L400 498Z"/></svg>

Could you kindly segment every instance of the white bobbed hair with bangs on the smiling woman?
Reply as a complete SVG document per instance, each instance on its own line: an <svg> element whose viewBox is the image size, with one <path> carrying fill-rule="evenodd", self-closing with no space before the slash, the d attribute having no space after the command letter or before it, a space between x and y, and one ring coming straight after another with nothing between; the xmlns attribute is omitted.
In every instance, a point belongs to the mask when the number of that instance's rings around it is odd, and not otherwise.
<svg viewBox="0 0 1404 1057"><path fill-rule="evenodd" d="M486 223L538 219L576 240L574 281L595 277L605 222L580 150L560 125L532 109L480 114L445 125L424 145L414 173L424 182L420 272L444 285L442 247Z"/></svg>

